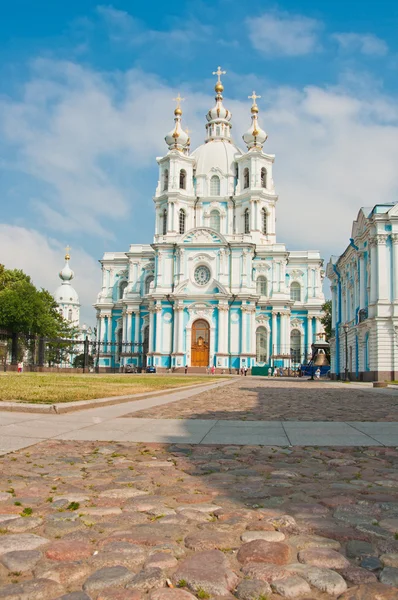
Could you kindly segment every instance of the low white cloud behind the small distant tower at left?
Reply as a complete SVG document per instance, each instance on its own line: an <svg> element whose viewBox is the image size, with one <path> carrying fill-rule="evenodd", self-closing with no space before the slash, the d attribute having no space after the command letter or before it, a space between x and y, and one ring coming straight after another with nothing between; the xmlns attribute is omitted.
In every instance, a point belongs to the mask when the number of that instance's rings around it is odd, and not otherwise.
<svg viewBox="0 0 398 600"><path fill-rule="evenodd" d="M60 285L59 271L64 266L65 250L58 241L34 229L0 224L1 263L8 269L22 269L37 287L54 293ZM81 323L95 324L92 304L101 287L101 271L92 256L81 248L72 248L71 267L75 272L72 285L79 294Z"/></svg>

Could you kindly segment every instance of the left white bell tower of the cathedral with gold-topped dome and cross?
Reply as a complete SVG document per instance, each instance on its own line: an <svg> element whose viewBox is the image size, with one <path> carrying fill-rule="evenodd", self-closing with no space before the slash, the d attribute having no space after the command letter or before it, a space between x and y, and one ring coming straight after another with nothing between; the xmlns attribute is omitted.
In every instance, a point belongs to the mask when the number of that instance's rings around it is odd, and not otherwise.
<svg viewBox="0 0 398 600"><path fill-rule="evenodd" d="M189 156L190 139L181 124L181 98L174 98L174 127L166 135L169 148L166 156L158 158L159 182L154 198L156 204L155 240L171 242L194 226L195 202L194 160Z"/></svg>

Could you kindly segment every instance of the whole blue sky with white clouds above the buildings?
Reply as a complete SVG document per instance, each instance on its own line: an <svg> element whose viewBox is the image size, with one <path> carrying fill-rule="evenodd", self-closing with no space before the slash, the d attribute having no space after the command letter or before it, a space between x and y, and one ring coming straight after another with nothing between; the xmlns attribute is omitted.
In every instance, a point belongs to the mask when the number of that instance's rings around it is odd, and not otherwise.
<svg viewBox="0 0 398 600"><path fill-rule="evenodd" d="M186 98L204 137L221 65L235 140L253 89L276 154L278 240L340 253L359 208L398 200L398 9L342 2L28 2L0 19L0 261L53 290L72 246L90 318L104 251L153 236L156 156ZM92 320L92 315L91 315Z"/></svg>

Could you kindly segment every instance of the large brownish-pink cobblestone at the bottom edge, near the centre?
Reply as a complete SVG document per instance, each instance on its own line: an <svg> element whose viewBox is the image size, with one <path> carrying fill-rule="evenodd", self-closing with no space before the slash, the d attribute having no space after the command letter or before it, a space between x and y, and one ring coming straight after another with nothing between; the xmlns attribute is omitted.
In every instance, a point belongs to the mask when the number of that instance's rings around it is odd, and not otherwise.
<svg viewBox="0 0 398 600"><path fill-rule="evenodd" d="M228 594L238 583L237 575L219 550L196 552L180 561L172 579L175 584L185 580L194 592L202 588L215 596Z"/></svg>

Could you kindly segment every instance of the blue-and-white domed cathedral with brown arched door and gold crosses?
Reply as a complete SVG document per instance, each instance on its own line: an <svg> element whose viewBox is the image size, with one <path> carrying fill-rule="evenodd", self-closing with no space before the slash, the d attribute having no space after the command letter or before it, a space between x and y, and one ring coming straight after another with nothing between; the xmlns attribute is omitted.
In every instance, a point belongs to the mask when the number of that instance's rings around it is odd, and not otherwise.
<svg viewBox="0 0 398 600"><path fill-rule="evenodd" d="M277 241L273 165L256 94L245 149L232 138L220 67L205 140L191 151L181 98L157 158L152 244L106 252L99 367L218 371L306 361L323 332L323 261ZM112 350L116 348L116 351Z"/></svg>

